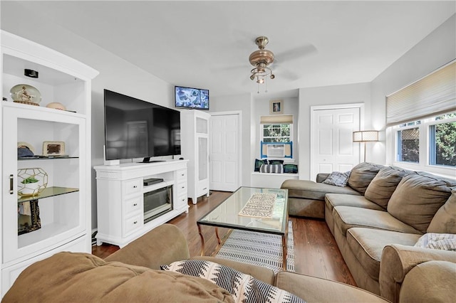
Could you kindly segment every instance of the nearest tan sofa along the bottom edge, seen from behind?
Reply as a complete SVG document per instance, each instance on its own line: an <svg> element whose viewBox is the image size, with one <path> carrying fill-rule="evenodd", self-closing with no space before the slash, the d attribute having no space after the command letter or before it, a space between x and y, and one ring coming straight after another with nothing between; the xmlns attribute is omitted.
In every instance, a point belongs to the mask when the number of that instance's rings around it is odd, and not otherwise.
<svg viewBox="0 0 456 303"><path fill-rule="evenodd" d="M199 275L160 270L173 262L217 262L224 267L219 277L227 277L227 269L242 272L260 281L257 295L275 285L296 297L257 297L247 302L381 302L388 301L364 289L293 272L279 272L257 265L247 265L215 257L190 258L185 235L175 225L164 224L113 253L105 260L84 253L61 252L26 268L6 293L2 302L233 302L223 289ZM180 262L179 262L180 263ZM201 264L201 263L200 263ZM451 265L450 265L451 266ZM449 302L442 289L426 292L429 280L417 278L439 270L443 279L452 284L451 270L445 262L410 265L401 294L402 302ZM417 280L418 279L418 280ZM229 280L229 279L224 279ZM227 287L229 288L229 287ZM276 289L277 291L277 289ZM244 299L246 299L244 297ZM443 299L443 301L442 301Z"/></svg>

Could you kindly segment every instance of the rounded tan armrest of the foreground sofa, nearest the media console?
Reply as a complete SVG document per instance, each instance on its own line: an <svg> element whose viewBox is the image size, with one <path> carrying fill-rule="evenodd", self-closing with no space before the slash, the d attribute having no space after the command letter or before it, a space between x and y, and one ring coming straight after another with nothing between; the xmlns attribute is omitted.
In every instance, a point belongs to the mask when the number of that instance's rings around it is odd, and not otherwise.
<svg viewBox="0 0 456 303"><path fill-rule="evenodd" d="M189 257L187 240L182 231L176 225L163 224L109 255L105 261L160 270L160 265L187 260Z"/></svg>

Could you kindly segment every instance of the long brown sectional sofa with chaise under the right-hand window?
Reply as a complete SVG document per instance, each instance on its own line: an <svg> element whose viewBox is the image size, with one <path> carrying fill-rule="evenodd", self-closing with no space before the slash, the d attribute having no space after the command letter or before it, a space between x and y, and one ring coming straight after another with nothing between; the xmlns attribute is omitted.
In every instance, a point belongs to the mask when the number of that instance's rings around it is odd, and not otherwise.
<svg viewBox="0 0 456 303"><path fill-rule="evenodd" d="M456 278L455 251L415 247L427 235L456 234L456 180L372 163L346 172L345 183L341 175L281 188L291 216L326 220L358 287L398 302L408 262L448 261ZM431 279L440 280L438 272Z"/></svg>

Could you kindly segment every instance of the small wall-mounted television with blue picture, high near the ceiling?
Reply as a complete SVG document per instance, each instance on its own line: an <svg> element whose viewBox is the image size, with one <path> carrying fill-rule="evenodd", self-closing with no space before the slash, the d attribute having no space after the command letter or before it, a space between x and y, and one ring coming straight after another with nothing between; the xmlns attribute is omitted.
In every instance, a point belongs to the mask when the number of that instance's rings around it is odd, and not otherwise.
<svg viewBox="0 0 456 303"><path fill-rule="evenodd" d="M175 107L209 110L209 90L194 87L174 87Z"/></svg>

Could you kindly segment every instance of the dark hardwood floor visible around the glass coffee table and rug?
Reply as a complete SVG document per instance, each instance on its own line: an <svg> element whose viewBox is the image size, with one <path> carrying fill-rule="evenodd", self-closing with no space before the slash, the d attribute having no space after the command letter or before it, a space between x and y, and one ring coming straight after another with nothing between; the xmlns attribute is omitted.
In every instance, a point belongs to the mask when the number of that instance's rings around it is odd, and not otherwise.
<svg viewBox="0 0 456 303"><path fill-rule="evenodd" d="M201 240L196 220L219 205L219 203L222 203L229 195L231 195L229 192L212 191L209 198L205 196L199 198L196 205L190 202L188 213L183 213L168 222L177 225L186 235L190 255L199 255L201 250ZM338 250L336 240L334 240L324 220L298 217L290 217L289 220L293 222L294 266L296 272L356 285L347 265L343 261L341 252ZM226 237L228 232L229 230L226 228L219 228L220 238ZM204 235L205 255L212 255L217 248L214 228L202 226L202 233ZM95 245L92 247L92 253L104 258L118 249L118 246L115 245Z"/></svg>

